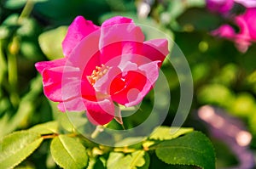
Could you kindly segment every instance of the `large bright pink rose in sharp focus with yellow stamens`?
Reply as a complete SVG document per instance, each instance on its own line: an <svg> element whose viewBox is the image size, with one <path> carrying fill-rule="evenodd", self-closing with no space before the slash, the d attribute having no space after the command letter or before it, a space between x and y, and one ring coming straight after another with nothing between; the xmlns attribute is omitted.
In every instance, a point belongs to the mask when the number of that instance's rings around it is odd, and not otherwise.
<svg viewBox="0 0 256 169"><path fill-rule="evenodd" d="M139 104L154 87L166 58L166 39L144 42L140 27L125 17L94 25L78 16L62 42L65 58L38 62L44 94L64 111L86 110L95 125L119 114L114 103Z"/></svg>

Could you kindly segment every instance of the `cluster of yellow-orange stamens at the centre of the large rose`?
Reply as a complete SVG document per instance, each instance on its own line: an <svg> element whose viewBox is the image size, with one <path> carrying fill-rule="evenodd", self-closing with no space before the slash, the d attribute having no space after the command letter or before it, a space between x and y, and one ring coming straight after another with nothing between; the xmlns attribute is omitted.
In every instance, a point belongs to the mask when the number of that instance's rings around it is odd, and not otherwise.
<svg viewBox="0 0 256 169"><path fill-rule="evenodd" d="M102 66L96 66L96 69L92 71L90 76L87 76L88 81L93 86L97 80L102 78L109 70L109 66L103 65Z"/></svg>

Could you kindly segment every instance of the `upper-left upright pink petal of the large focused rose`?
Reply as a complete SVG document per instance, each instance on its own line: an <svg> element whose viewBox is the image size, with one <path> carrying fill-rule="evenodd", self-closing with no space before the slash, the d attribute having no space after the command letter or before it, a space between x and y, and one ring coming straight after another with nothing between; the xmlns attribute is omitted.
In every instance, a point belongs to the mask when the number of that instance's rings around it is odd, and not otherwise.
<svg viewBox="0 0 256 169"><path fill-rule="evenodd" d="M76 17L68 27L67 36L62 42L64 55L68 56L84 37L98 29L99 26L94 25L90 20L85 20L83 16Z"/></svg>

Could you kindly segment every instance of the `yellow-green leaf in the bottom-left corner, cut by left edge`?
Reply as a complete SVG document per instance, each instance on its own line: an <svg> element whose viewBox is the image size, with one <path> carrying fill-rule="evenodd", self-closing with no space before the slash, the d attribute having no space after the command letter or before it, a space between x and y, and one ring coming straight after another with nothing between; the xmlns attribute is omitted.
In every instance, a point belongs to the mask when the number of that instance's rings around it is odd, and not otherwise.
<svg viewBox="0 0 256 169"><path fill-rule="evenodd" d="M30 131L13 132L0 141L0 166L13 168L39 147L43 138Z"/></svg>

